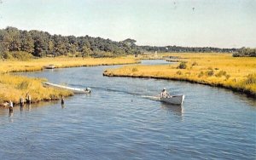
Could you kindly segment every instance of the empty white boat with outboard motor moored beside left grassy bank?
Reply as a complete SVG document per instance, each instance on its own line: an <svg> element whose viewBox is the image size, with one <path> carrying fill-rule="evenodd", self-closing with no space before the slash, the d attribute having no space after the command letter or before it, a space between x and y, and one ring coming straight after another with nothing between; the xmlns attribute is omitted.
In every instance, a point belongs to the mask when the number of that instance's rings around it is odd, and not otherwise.
<svg viewBox="0 0 256 160"><path fill-rule="evenodd" d="M74 94L90 94L90 88L85 88L85 89L78 89L78 88L72 88L72 87L67 87L55 83L43 83L44 87L53 87L56 89L66 89L69 91L72 91Z"/></svg>

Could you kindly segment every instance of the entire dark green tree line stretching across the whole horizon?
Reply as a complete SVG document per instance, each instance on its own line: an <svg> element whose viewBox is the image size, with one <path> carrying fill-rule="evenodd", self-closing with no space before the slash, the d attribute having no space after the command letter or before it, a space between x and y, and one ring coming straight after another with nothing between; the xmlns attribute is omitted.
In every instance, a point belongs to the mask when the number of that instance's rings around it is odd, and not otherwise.
<svg viewBox="0 0 256 160"><path fill-rule="evenodd" d="M102 37L74 37L51 35L47 31L22 31L15 27L0 30L0 59L9 57L81 56L115 57L143 52L219 52L233 56L255 56L255 49L219 49L212 47L137 46L136 40L128 38L115 42Z"/></svg>

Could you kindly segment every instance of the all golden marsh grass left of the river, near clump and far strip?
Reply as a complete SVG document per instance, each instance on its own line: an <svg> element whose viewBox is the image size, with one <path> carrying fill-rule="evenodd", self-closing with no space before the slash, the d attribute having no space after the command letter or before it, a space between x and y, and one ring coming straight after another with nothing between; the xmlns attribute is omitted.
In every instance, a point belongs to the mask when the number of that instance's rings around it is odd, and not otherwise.
<svg viewBox="0 0 256 160"><path fill-rule="evenodd" d="M73 93L61 89L46 89L42 78L30 78L10 75L9 72L16 71L40 71L44 66L55 65L56 67L76 66L102 66L137 63L129 57L124 58L43 58L38 60L0 60L0 106L9 100L17 104L20 97L25 98L26 94L32 95L32 102L40 100L59 100L61 95L69 96Z"/></svg>

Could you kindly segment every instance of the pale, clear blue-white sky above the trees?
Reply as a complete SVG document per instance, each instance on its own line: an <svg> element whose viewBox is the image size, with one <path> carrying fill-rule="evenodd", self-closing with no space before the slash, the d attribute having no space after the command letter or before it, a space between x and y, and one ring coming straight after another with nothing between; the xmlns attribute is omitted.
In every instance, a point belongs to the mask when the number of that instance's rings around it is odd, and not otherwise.
<svg viewBox="0 0 256 160"><path fill-rule="evenodd" d="M7 26L138 45L255 48L256 0L0 0Z"/></svg>

